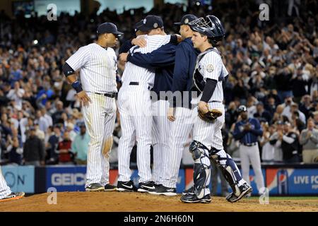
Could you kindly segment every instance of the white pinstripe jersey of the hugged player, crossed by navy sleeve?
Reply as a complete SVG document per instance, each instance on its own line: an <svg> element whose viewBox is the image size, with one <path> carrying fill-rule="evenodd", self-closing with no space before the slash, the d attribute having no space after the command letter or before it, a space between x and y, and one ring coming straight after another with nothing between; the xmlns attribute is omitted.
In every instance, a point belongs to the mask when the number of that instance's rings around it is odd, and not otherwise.
<svg viewBox="0 0 318 226"><path fill-rule="evenodd" d="M129 53L131 55L134 52L141 52L146 54L148 52L152 52L155 49L158 49L164 44L170 42L171 35L139 35L139 37L143 37L147 45L146 47L139 48L138 46L131 47ZM123 85L129 85L130 82L139 82L143 84L148 84L153 88L153 83L155 82L155 70L145 69L140 66L136 66L131 62L127 62L125 64L124 73L122 75Z"/></svg>

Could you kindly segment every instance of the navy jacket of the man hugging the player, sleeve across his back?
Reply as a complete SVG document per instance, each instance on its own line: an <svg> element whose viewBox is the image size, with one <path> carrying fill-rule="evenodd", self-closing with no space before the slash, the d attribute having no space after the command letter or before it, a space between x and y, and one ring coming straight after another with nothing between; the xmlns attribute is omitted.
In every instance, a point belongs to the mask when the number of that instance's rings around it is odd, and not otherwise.
<svg viewBox="0 0 318 226"><path fill-rule="evenodd" d="M175 44L165 44L148 54L135 52L128 55L127 61L146 69L155 69L155 83L153 91L159 95L160 91L171 91L173 69L175 67Z"/></svg>

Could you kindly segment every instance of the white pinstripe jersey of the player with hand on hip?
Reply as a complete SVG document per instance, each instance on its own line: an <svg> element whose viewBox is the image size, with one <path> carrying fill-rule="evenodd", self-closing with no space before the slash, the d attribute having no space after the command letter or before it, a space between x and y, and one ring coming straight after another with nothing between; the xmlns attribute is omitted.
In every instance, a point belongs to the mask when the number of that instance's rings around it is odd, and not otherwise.
<svg viewBox="0 0 318 226"><path fill-rule="evenodd" d="M81 83L86 92L117 93L114 49L91 43L79 48L66 63L74 71L80 69Z"/></svg>

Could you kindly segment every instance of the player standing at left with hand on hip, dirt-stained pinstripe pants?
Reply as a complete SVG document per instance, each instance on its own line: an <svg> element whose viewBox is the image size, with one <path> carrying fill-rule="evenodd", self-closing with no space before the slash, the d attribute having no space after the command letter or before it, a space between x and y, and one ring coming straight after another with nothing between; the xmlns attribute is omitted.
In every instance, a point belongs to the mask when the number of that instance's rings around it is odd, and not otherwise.
<svg viewBox="0 0 318 226"><path fill-rule="evenodd" d="M90 135L86 191L114 191L116 188L109 184L117 93L117 57L112 47L123 33L113 23L102 23L97 33L98 41L79 48L67 59L63 71L83 103L83 117ZM81 83L76 78L77 70Z"/></svg>

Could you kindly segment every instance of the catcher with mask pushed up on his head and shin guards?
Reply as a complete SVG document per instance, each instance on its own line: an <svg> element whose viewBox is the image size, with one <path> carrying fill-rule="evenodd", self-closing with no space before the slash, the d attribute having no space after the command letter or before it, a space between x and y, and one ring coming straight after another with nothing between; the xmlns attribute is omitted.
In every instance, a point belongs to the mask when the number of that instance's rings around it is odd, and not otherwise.
<svg viewBox="0 0 318 226"><path fill-rule="evenodd" d="M192 98L197 104L193 109L196 115L193 127L193 140L190 152L194 158L194 192L183 194L184 203L210 203L209 157L220 167L232 187L232 194L227 197L230 202L238 201L242 196L252 192L252 187L242 179L232 157L223 149L221 128L224 124L223 82L228 78L216 42L223 39L225 30L216 16L206 16L189 23L194 30L192 42L201 54L196 59L194 69L194 90L199 97ZM218 112L218 114L215 114Z"/></svg>

